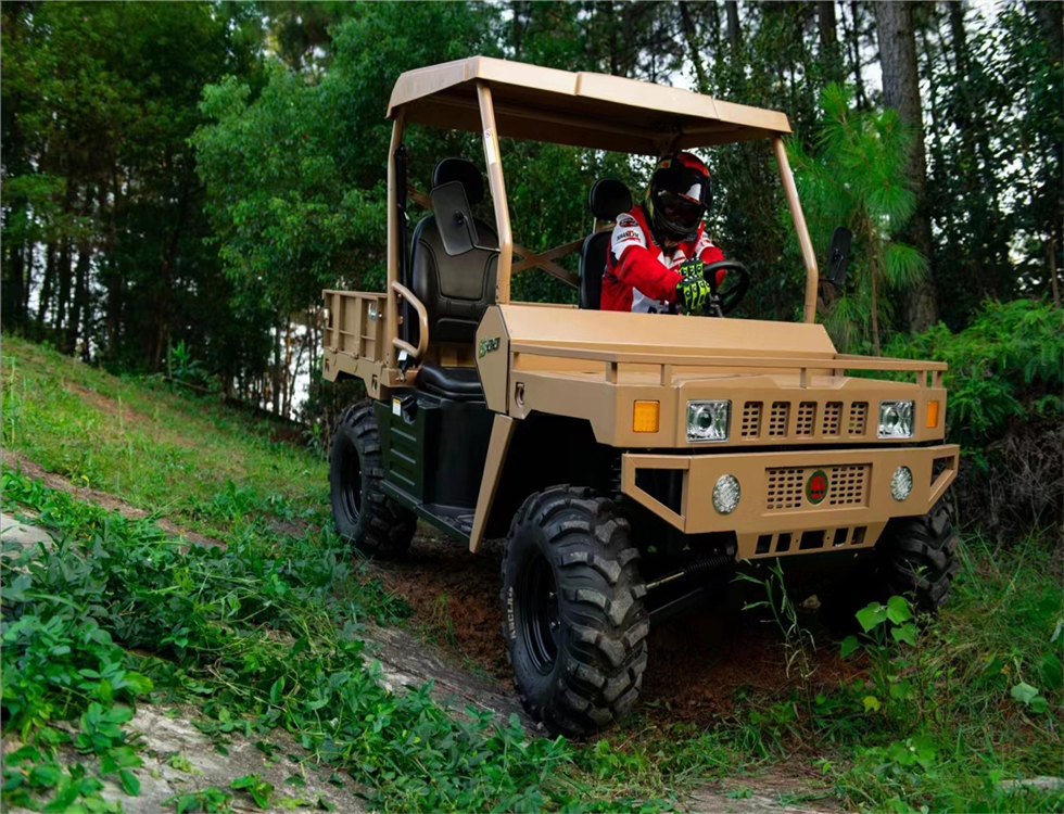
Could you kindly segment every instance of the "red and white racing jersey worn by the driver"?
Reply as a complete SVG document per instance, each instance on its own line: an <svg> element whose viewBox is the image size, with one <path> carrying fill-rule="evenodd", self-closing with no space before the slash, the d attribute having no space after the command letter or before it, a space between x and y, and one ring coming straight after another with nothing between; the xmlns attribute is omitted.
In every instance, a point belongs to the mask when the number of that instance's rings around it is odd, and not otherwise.
<svg viewBox="0 0 1064 814"><path fill-rule="evenodd" d="M694 257L704 263L717 263L724 254L706 237L705 225L698 225L694 240L676 245L672 251L654 239L642 205L618 216L613 226L603 276L603 310L630 310L663 314L676 295L682 277L675 269ZM717 282L723 282L718 272Z"/></svg>

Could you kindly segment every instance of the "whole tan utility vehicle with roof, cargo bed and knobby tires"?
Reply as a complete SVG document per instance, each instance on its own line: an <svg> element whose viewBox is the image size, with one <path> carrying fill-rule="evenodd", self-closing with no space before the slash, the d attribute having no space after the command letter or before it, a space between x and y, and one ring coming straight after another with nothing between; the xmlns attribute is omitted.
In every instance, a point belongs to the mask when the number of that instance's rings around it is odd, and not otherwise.
<svg viewBox="0 0 1064 814"><path fill-rule="evenodd" d="M840 355L815 323L784 114L478 56L403 74L388 116L388 292L325 292L325 377L369 394L335 428L333 516L369 554L406 549L418 519L472 552L506 536L503 634L535 717L579 736L626 713L650 622L721 590L742 561L835 565L865 602L946 600L946 366ZM482 135L494 226L470 214L484 185L468 161L436 166L431 201L408 188L410 125ZM650 156L768 139L806 266L805 322L599 310L598 227L631 207L628 190L599 181L593 234L528 252L510 233L501 136ZM409 255L408 194L433 211ZM834 244L837 281L848 244ZM574 251L579 278L555 263ZM511 276L534 266L577 285L580 307L511 302ZM712 297L725 308L745 281L729 266L742 279Z"/></svg>

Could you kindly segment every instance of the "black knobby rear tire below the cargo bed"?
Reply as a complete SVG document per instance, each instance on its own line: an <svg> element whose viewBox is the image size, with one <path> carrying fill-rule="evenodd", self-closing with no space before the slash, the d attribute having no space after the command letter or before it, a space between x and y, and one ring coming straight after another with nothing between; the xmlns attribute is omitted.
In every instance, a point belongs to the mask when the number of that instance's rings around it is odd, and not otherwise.
<svg viewBox="0 0 1064 814"><path fill-rule="evenodd" d="M337 533L370 557L402 555L417 527L417 516L381 492L383 476L372 404L353 404L332 431L329 498Z"/></svg>

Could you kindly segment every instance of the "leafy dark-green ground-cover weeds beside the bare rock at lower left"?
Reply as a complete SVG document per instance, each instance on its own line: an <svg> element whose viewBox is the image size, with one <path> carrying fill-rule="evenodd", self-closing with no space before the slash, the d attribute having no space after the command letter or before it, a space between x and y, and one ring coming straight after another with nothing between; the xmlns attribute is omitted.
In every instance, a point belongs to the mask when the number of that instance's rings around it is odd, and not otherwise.
<svg viewBox="0 0 1064 814"><path fill-rule="evenodd" d="M176 666L149 662L160 687L212 687L204 711L219 723L294 727L305 747L376 788L385 805L539 807L556 793L552 773L570 760L562 741L529 740L516 720L497 727L491 713L472 708L468 720L454 720L428 688L395 696L376 682L357 632L365 619L394 620L394 602L376 583L359 582L334 536L282 540L246 533L225 550L182 551L148 523L41 489L25 476L5 471L3 492L5 500L65 519L54 550L5 554L5 635L12 620L56 615L80 601L84 623L94 622L127 648L173 660ZM12 590L20 578L21 590ZM343 600L333 597L340 586ZM296 637L294 644L267 635L270 627ZM21 641L5 643L5 675L27 658L30 646ZM46 670L71 681L75 666L61 660ZM218 671L225 681L214 677ZM59 705L49 690L51 705ZM30 728L47 723L9 709L5 694L5 720L16 713ZM122 742L114 726L128 716L92 707L89 715L87 748L101 738ZM268 801L270 790L258 778L242 783L256 802Z"/></svg>

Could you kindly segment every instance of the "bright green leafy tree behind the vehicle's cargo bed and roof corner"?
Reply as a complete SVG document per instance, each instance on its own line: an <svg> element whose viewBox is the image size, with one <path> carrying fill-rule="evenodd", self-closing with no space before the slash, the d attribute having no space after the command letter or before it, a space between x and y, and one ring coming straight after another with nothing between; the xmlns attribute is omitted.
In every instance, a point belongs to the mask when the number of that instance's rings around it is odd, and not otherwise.
<svg viewBox="0 0 1064 814"><path fill-rule="evenodd" d="M494 14L467 3L355 5L333 28L324 75L275 64L261 92L235 77L204 89L212 124L192 139L198 171L226 274L248 303L283 318L326 287L383 288L392 85L406 69L492 52ZM468 142L413 132L411 180Z"/></svg>

